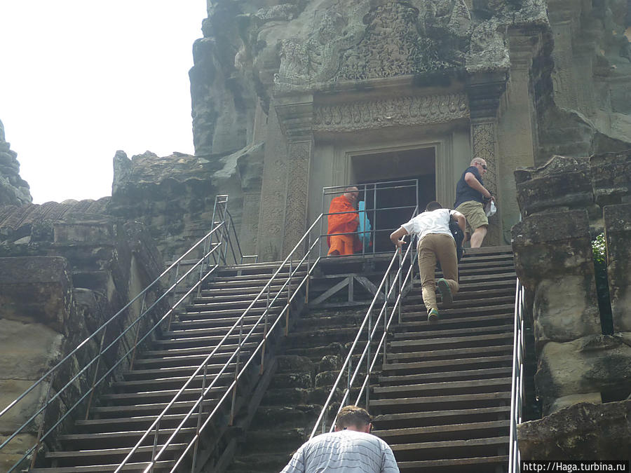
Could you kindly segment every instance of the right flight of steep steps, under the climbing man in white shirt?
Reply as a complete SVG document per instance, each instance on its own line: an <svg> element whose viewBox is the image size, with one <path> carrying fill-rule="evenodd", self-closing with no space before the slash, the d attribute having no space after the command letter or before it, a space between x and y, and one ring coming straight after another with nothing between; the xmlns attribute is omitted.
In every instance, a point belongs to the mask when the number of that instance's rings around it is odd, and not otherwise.
<svg viewBox="0 0 631 473"><path fill-rule="evenodd" d="M510 247L467 249L460 292L430 324L415 287L370 412L401 471L508 469L515 269Z"/></svg>

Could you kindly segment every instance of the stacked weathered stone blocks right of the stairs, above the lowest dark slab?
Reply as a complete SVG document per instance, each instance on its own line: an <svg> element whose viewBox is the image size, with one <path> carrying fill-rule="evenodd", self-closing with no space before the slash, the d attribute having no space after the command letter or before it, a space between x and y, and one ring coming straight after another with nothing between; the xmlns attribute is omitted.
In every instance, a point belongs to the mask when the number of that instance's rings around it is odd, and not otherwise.
<svg viewBox="0 0 631 473"><path fill-rule="evenodd" d="M513 249L528 293L544 414L631 394L630 165L631 149L555 156L515 172L524 219L513 227ZM613 320L597 301L591 241L603 231Z"/></svg>

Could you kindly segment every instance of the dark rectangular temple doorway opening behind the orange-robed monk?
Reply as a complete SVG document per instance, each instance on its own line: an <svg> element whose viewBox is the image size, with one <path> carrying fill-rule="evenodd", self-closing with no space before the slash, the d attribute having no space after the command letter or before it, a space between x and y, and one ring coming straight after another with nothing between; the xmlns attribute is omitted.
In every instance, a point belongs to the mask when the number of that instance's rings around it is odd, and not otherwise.
<svg viewBox="0 0 631 473"><path fill-rule="evenodd" d="M435 148L351 156L351 176L374 230L372 251L391 252L390 233L436 200Z"/></svg>

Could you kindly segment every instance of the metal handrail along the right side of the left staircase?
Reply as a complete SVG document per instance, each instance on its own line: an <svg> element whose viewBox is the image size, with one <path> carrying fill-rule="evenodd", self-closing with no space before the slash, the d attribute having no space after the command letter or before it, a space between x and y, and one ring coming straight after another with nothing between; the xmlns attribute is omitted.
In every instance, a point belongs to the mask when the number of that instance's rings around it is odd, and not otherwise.
<svg viewBox="0 0 631 473"><path fill-rule="evenodd" d="M290 327L290 309L292 307L292 303L296 301L298 296L302 296L302 289L304 289L304 297L308 296L308 282L313 270L321 259L321 238L312 238L314 228L320 224L323 219L323 214L320 214L311 227L308 228L303 237L297 242L292 251L287 255L285 260L280 263L278 269L271 276L266 285L261 289L261 291L255 296L255 299L250 303L250 305L243 311L243 314L234 322L229 331L222 337L222 339L215 345L215 348L212 349L212 352L204 359L204 361L196 368L193 374L189 376L189 378L184 382L182 388L178 390L175 397L171 399L168 405L163 409L163 411L156 417L153 423L144 431L142 437L137 441L135 446L131 449L128 455L125 456L124 460L116 467L114 473L120 472L124 469L125 465L129 465L130 462L133 462L133 455L139 450L140 446L144 443L146 439L148 439L151 435L154 436L154 449L151 452L151 460L147 463L147 466L144 468L144 472L150 472L151 469L156 466L156 464L161 460L162 456L168 451L170 445L172 445L175 441L175 438L179 435L179 432L184 429L184 426L189 421L189 419L194 416L197 417L196 423L196 432L191 439L186 441L186 448L184 451L177 456L175 459L175 465L172 466L170 472L183 471L184 469L190 470L191 472L197 472L201 467L203 467L204 460L198 459L200 455L200 439L204 431L212 425L217 430L217 427L221 427L224 425L227 420L227 425L230 426L233 424L236 415L236 393L239 386L239 383L244 381L247 378L247 373L251 372L252 366L255 366L256 363L259 364L259 375L264 373L266 369L266 363L269 362L269 359L266 358L266 345L270 343L271 338L276 336L278 332L278 327L281 327L281 322L284 320L284 333L287 335ZM315 241L312 241L315 240ZM315 248L317 250L315 250ZM305 251L306 249L306 251ZM314 251L315 250L315 251ZM315 261L310 260L310 256L312 252L315 254ZM297 261L295 261L297 260ZM300 277L299 280L296 280L297 273L306 267L306 272L303 277ZM285 271L283 271L285 270ZM273 283L282 282L279 289L271 289L273 287ZM244 321L245 317L250 313L250 310L257 304L258 301L265 300L265 309L264 312L258 317L257 321L252 325L247 334L244 333ZM285 305L282 310L278 314L271 314L270 309L275 307L277 301L285 301ZM308 301L307 301L308 302ZM279 307L279 306L276 306ZM255 331L262 327L263 336L262 339L257 343L255 348L252 348L252 351L247 353L247 359L243 361L241 359L241 355L245 352L244 347L254 337ZM213 357L215 357L215 353L218 352L219 348L226 343L226 340L232 334L238 332L238 345L231 353L228 361L218 363L217 365L223 365L217 373L212 374L212 381L208 382L207 376L207 368L208 365L212 362ZM225 355L225 354L224 354ZM257 359L258 358L258 359ZM233 364L233 373L228 373L229 376L233 376L233 381L225 388L222 396L216 402L214 408L210 412L203 412L203 402L209 399L210 392L215 388L217 382L224 373L229 371L229 366ZM175 430L170 434L168 439L161 445L160 448L157 447L158 442L158 434L160 432L160 424L165 416L168 416L168 413L172 410L172 406L174 406L177 399L182 395L184 390L191 385L194 379L198 376L203 376L202 385L200 389L200 394L196 399L194 405L189 409L189 411L184 415L184 418L179 422ZM216 390L217 388L215 388ZM229 406L227 403L230 402ZM226 411L229 411L226 412ZM203 420L202 418L205 417ZM188 458L189 463L184 463L184 460Z"/></svg>

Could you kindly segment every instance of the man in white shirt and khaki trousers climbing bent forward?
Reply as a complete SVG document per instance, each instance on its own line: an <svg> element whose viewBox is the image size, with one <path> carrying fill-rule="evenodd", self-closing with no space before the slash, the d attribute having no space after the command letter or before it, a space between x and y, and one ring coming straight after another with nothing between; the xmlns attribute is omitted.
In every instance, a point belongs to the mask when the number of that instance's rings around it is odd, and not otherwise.
<svg viewBox="0 0 631 473"><path fill-rule="evenodd" d="M405 235L414 233L419 238L419 274L423 303L427 309L427 320L430 322L438 320L434 281L436 260L440 261L442 274L445 276L438 280L438 290L445 306L452 304L453 294L456 294L459 289L456 241L449 230L451 219L456 220L462 231L465 231L466 219L463 214L456 210L444 209L440 203L433 201L425 207L425 212L416 215L390 235L390 239L398 249L405 244L402 239Z"/></svg>

